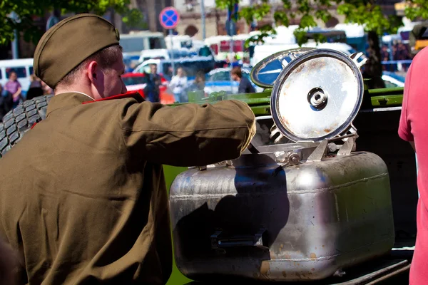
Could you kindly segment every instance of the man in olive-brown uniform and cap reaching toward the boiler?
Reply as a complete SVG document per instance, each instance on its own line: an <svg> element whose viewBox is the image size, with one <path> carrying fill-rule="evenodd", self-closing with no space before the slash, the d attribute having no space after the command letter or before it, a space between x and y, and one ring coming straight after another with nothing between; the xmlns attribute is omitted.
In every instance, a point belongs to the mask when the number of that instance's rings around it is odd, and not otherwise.
<svg viewBox="0 0 428 285"><path fill-rule="evenodd" d="M34 72L55 96L0 160L0 238L19 255L19 284L165 284L162 165L230 160L253 138L245 103L171 108L125 93L118 40L108 21L78 14L36 47Z"/></svg>

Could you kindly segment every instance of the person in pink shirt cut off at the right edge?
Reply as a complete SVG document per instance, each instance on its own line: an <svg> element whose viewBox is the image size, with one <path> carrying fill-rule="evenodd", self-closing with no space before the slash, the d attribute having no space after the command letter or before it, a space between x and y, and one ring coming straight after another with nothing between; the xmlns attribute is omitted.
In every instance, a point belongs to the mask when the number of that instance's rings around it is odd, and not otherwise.
<svg viewBox="0 0 428 285"><path fill-rule="evenodd" d="M417 155L417 237L410 268L411 285L428 284L428 48L414 57L404 83L398 135L410 142Z"/></svg>

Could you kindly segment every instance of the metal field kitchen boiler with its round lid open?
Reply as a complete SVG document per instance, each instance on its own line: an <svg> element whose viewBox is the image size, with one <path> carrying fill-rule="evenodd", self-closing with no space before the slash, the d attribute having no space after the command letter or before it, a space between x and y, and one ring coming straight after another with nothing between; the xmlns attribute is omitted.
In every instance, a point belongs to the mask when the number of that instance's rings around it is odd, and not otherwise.
<svg viewBox="0 0 428 285"><path fill-rule="evenodd" d="M190 279L325 279L392 249L387 166L354 151L360 55L290 56L272 117L258 120L259 133L272 122L270 143L253 139L236 160L190 167L170 188L175 262Z"/></svg>

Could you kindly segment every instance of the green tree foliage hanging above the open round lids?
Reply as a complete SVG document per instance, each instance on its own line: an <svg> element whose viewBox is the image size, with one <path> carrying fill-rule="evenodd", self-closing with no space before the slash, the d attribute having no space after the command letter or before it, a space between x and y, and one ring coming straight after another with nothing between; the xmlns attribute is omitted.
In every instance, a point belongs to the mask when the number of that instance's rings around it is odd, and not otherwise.
<svg viewBox="0 0 428 285"><path fill-rule="evenodd" d="M419 1L419 6L428 7L427 0L412 0ZM215 4L219 9L228 9L239 0L215 0ZM428 8L426 14L428 18ZM420 9L416 9L418 12ZM276 25L289 26L290 19L300 19L298 28L295 30L296 41L300 45L307 41L305 31L308 28L317 26L317 21L327 23L332 17L330 11L337 11L337 14L345 16L346 23L355 23L365 26L366 31L375 31L378 35L384 32L396 33L397 28L402 26L402 21L397 16L385 16L382 14L380 6L375 0L282 0L279 9L276 9L273 14L273 19ZM260 21L268 16L271 12L269 0L258 0L252 6L246 6L240 9L239 18L245 19L250 24L254 20ZM414 10L408 11L414 13ZM417 14L418 16L422 16ZM260 35L251 38L250 41L262 41L263 37L269 36L271 33L275 35L275 30L270 25L262 27ZM318 41L323 41L320 36Z"/></svg>

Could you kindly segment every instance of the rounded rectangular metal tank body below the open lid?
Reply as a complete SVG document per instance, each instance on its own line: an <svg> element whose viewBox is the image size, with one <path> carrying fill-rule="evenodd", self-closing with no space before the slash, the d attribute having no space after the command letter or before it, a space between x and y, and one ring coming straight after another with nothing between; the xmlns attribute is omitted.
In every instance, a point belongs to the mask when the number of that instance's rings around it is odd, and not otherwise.
<svg viewBox="0 0 428 285"><path fill-rule="evenodd" d="M170 213L185 276L324 279L392 249L389 176L380 157L351 152L284 167L273 152L176 177Z"/></svg>

